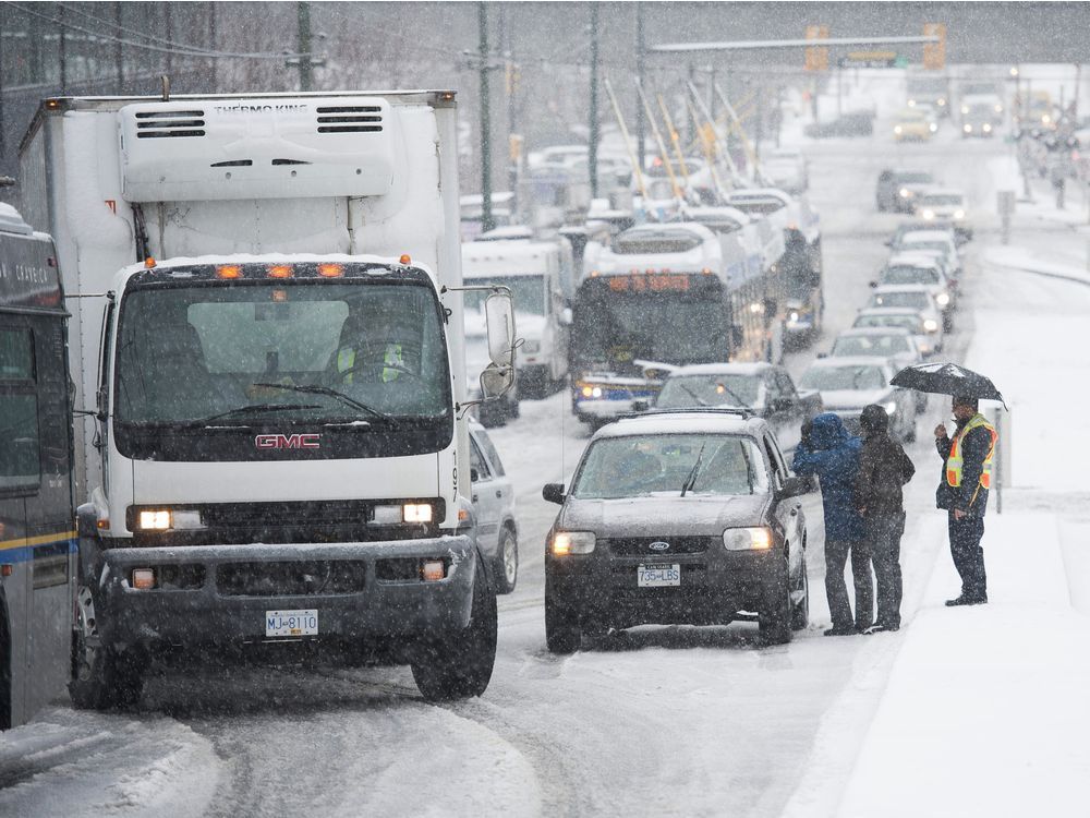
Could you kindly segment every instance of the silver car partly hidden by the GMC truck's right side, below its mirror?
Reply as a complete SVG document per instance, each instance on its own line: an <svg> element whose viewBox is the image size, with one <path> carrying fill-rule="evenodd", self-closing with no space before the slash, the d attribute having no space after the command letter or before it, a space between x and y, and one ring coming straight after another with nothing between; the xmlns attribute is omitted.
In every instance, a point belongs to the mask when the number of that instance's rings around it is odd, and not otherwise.
<svg viewBox="0 0 1090 818"><path fill-rule="evenodd" d="M477 543L492 560L496 592L510 593L519 579L519 527L514 520L514 489L499 453L480 423L470 426L470 483L476 515Z"/></svg>

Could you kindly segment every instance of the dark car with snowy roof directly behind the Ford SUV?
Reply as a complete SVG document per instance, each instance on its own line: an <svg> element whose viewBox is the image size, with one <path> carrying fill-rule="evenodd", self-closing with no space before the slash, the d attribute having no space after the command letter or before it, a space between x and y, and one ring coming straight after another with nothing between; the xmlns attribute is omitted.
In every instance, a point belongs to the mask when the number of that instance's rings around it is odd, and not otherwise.
<svg viewBox="0 0 1090 818"><path fill-rule="evenodd" d="M656 409L734 407L751 409L772 426L780 448L799 444L803 421L822 411L821 395L799 392L783 366L772 363L701 363L669 374Z"/></svg>

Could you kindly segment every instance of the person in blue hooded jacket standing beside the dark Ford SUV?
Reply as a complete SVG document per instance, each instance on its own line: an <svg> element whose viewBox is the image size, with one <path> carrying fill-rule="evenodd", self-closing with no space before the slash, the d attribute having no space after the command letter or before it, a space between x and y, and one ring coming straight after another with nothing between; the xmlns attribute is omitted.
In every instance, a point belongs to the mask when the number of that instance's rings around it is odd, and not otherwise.
<svg viewBox="0 0 1090 818"><path fill-rule="evenodd" d="M874 586L867 553L867 531L856 504L856 476L862 441L848 433L832 412L802 424L802 441L795 448L791 468L796 474L816 474L821 481L825 512L825 596L833 627L825 636L862 633L874 616ZM844 567L851 555L856 586L856 615L852 619Z"/></svg>

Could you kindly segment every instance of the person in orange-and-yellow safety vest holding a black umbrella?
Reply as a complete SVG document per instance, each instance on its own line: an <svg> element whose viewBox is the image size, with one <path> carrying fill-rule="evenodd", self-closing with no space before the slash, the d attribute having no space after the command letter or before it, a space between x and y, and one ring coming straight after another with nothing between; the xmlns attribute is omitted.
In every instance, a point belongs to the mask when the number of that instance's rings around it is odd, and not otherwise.
<svg viewBox="0 0 1090 818"><path fill-rule="evenodd" d="M946 424L935 426L935 447L943 458L943 473L935 492L935 505L948 514L950 555L961 577L961 593L947 605L979 605L988 602L984 572L984 512L991 486L995 428L977 411L977 399L954 398L954 437Z"/></svg>

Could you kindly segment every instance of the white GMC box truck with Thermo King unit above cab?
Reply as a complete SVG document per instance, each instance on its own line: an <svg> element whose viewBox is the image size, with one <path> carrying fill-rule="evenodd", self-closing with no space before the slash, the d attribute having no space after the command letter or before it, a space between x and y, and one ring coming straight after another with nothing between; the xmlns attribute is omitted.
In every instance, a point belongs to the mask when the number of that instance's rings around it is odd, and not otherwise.
<svg viewBox="0 0 1090 818"><path fill-rule="evenodd" d="M45 100L28 220L72 311L77 707L191 649L480 695L451 92ZM509 293L486 392L513 377Z"/></svg>

